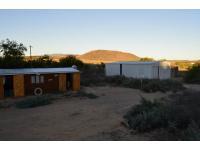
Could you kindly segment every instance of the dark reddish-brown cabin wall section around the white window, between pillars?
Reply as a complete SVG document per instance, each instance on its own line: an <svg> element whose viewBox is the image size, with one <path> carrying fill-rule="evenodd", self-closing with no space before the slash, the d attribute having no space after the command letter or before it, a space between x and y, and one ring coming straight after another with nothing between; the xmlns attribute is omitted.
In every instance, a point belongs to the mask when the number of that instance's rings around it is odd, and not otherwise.
<svg viewBox="0 0 200 150"><path fill-rule="evenodd" d="M59 74L42 74L44 83L31 83L32 75L24 75L25 95L33 95L35 88L39 87L43 93L51 93L59 91Z"/></svg>

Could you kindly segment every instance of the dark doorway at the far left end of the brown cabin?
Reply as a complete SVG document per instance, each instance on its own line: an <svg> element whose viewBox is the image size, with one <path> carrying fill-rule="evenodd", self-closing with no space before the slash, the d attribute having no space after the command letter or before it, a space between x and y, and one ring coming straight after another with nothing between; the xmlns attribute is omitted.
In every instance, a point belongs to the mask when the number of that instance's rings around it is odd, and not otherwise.
<svg viewBox="0 0 200 150"><path fill-rule="evenodd" d="M13 96L13 76L5 76L4 96Z"/></svg>

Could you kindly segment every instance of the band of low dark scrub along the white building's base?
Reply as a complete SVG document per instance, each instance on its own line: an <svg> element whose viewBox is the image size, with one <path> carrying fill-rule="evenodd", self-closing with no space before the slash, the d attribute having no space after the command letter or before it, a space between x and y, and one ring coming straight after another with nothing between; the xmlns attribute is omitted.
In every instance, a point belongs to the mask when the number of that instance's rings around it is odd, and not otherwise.
<svg viewBox="0 0 200 150"><path fill-rule="evenodd" d="M82 77L82 85L111 85L111 86L121 86L133 89L141 89L144 92L167 92L173 91L177 92L183 90L184 87L182 83L175 80L158 80L158 79L134 79L127 78L125 76L110 76L100 75L98 72L93 71L93 75L88 75L87 78ZM93 76L93 77L92 77Z"/></svg>

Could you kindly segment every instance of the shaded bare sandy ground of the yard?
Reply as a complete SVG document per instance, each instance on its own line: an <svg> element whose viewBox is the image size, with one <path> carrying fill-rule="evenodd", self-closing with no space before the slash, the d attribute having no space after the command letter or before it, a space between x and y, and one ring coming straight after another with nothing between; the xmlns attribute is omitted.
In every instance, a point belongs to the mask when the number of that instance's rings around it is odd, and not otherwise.
<svg viewBox="0 0 200 150"><path fill-rule="evenodd" d="M166 94L120 87L83 89L99 97L59 96L46 106L1 109L0 140L149 140L146 135L130 135L121 124L123 115L140 96L155 99Z"/></svg>

